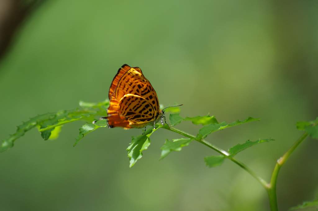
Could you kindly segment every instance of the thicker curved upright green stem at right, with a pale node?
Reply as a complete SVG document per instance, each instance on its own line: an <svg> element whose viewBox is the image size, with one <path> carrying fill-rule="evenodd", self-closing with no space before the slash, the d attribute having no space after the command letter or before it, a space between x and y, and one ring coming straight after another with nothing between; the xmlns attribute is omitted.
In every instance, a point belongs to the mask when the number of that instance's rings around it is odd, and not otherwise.
<svg viewBox="0 0 318 211"><path fill-rule="evenodd" d="M269 197L269 203L272 211L277 211L277 194L276 194L276 183L277 183L277 176L279 173L280 168L284 163L287 161L287 159L290 157L290 155L294 152L294 150L297 148L297 146L306 139L308 136L308 133L302 134L302 136L289 148L289 150L282 156L280 159L277 160L276 165L273 170L273 174L271 177L271 182L267 185L267 193Z"/></svg>

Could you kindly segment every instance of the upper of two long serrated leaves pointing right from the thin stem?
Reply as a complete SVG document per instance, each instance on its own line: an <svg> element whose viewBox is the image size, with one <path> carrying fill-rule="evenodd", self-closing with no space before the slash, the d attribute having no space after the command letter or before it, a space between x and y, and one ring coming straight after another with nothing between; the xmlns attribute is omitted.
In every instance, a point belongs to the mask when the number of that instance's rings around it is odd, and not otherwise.
<svg viewBox="0 0 318 211"><path fill-rule="evenodd" d="M237 120L237 121L232 122L230 124L228 124L226 122L222 122L222 123L219 123L219 124L215 124L214 123L214 124L206 125L206 126L203 126L199 130L199 134L197 135L197 137L198 138L205 138L210 133L214 133L214 132L217 132L219 130L223 130L223 129L226 129L226 128L229 128L229 127L241 125L241 124L252 122L252 121L259 121L259 119L248 117L247 119L245 119L243 121Z"/></svg>

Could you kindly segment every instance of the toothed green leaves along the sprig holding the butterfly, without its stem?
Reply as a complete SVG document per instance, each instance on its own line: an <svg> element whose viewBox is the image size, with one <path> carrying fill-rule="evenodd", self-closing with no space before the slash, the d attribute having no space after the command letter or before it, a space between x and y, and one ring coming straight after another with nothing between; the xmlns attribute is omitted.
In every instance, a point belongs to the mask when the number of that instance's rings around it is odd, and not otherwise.
<svg viewBox="0 0 318 211"><path fill-rule="evenodd" d="M107 115L107 107L109 105L109 101L105 100L99 103L88 103L88 102L79 102L80 108L73 110L63 110L56 113L48 113L39 115L37 117L31 118L29 121L25 122L23 125L18 126L17 132L11 135L8 139L5 139L1 142L0 150L1 152L9 149L13 146L13 142L24 135L24 133L31 128L38 126L38 130L41 133L41 137L44 140L48 139L56 139L61 130L61 126L64 124L74 122L74 121L85 121L86 124L79 128L79 135L75 140L73 146L76 146L77 143L84 138L87 134L92 133L100 127L106 127L107 121L105 119L98 120L95 124L92 124L92 121L97 119L98 116L106 116ZM179 107L171 107L167 108L166 112L173 112L169 115L170 124L172 126L180 124L182 121L191 121L194 125L202 125L203 128L200 129L197 137L192 138L182 138L182 139L173 139L172 141L166 140L164 145L161 147L161 157L163 159L172 151L181 151L182 147L188 146L192 140L202 139L202 137L206 137L208 134L232 127L237 126L243 123L256 121L259 119L247 118L243 121L235 121L231 124L227 124L226 122L218 123L217 119L214 116L196 116L196 117L186 117L183 118L180 116L180 108ZM176 112L176 113L175 113ZM148 149L150 146L150 136L157 129L165 127L170 128L169 126L162 126L158 124L156 129L148 129L144 134L132 137L132 141L127 148L128 157L130 160L130 167L134 166L137 160L142 158L142 151ZM232 156L234 154L250 147L258 143L262 143L269 140L258 140L255 142L247 141L242 145L237 145L232 147L229 152ZM211 156L205 158L206 164L210 167L217 166L222 164L223 155L220 156Z"/></svg>

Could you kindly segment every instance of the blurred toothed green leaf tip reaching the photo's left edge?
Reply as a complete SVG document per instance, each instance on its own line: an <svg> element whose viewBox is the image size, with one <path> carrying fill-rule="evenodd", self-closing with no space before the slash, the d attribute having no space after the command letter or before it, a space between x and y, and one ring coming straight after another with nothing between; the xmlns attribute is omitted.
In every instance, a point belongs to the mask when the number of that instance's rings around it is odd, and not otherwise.
<svg viewBox="0 0 318 211"><path fill-rule="evenodd" d="M42 122L46 119L51 119L52 117L54 117L54 115L55 113L41 114L31 118L29 121L24 122L22 125L17 126L17 131L14 134L11 134L9 138L4 139L0 142L0 152L4 152L13 147L14 141L23 136L25 132L37 126L39 122Z"/></svg>

